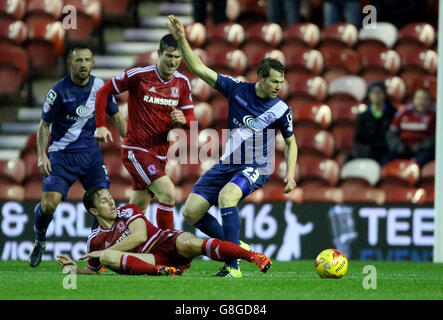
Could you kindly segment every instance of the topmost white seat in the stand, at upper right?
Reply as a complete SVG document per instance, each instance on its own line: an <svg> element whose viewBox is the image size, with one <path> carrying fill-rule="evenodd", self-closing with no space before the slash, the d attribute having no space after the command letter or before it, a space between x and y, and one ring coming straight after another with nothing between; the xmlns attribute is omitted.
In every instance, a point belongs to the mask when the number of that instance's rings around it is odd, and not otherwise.
<svg viewBox="0 0 443 320"><path fill-rule="evenodd" d="M376 28L361 28L358 34L357 51L371 51L375 48L391 49L398 38L397 28L389 22L377 22Z"/></svg>

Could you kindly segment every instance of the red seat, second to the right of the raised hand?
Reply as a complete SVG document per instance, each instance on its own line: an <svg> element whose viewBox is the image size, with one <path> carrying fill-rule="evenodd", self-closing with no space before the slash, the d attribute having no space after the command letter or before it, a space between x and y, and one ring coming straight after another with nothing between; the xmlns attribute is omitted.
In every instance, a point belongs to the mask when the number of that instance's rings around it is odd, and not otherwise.
<svg viewBox="0 0 443 320"><path fill-rule="evenodd" d="M208 39L238 48L245 41L245 30L238 23L220 23L208 28Z"/></svg>

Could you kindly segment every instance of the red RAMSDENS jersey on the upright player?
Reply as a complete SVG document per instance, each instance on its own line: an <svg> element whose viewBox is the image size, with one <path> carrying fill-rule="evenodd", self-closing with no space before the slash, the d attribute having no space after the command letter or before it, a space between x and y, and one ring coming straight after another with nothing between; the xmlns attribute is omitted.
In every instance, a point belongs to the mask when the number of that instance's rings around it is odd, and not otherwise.
<svg viewBox="0 0 443 320"><path fill-rule="evenodd" d="M173 108L194 113L188 78L176 71L170 80L163 80L154 64L128 69L113 77L112 85L116 93L129 91L128 132L123 147L141 147L165 157Z"/></svg>

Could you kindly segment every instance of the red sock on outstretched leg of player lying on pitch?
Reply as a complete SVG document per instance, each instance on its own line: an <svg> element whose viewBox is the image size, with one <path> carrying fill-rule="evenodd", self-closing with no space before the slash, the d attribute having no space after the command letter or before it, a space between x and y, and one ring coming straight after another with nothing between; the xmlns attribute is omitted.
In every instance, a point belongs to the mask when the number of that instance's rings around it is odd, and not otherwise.
<svg viewBox="0 0 443 320"><path fill-rule="evenodd" d="M215 238L209 238L203 241L202 254L212 260L229 262L235 259L244 259L251 261L254 253L243 249L230 241L221 241Z"/></svg>

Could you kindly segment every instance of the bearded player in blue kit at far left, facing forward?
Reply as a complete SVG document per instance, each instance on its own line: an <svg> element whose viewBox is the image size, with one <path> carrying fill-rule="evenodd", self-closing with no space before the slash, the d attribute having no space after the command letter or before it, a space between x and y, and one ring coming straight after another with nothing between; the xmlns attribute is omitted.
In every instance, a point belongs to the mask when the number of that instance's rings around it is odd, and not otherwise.
<svg viewBox="0 0 443 320"><path fill-rule="evenodd" d="M37 132L43 196L34 210L36 237L29 255L31 267L40 264L46 247L46 230L72 184L79 179L85 190L93 186L109 188L107 169L94 139L95 95L104 81L90 75L94 57L86 44L72 46L67 64L69 74L53 85L46 96ZM119 112L114 97L109 98L106 111L124 137L126 120Z"/></svg>

